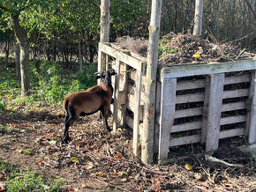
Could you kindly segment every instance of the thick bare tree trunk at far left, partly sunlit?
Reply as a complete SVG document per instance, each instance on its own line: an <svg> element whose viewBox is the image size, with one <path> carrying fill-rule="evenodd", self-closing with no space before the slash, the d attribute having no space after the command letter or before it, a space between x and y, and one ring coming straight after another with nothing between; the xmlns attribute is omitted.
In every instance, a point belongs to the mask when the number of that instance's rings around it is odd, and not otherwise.
<svg viewBox="0 0 256 192"><path fill-rule="evenodd" d="M20 79L21 79L21 96L29 95L29 41L27 40L26 30L19 24L19 16L12 15L13 31L20 48Z"/></svg>

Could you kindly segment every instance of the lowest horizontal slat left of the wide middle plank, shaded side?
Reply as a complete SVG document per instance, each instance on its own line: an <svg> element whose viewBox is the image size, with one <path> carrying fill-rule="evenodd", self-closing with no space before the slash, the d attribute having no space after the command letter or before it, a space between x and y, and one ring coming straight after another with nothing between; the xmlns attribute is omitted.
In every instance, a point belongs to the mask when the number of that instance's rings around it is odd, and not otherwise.
<svg viewBox="0 0 256 192"><path fill-rule="evenodd" d="M194 144L200 143L201 135L193 135L193 136L186 136L186 137L178 137L172 138L169 140L169 147L178 146L182 144Z"/></svg>

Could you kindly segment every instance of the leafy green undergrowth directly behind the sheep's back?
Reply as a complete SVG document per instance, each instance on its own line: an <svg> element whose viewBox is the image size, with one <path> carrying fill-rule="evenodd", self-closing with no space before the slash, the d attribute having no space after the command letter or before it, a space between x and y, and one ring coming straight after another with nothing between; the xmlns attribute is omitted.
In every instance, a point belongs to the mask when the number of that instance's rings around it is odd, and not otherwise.
<svg viewBox="0 0 256 192"><path fill-rule="evenodd" d="M52 104L61 104L64 97L70 92L86 90L96 85L94 72L96 65L91 63L83 71L68 74L57 63L42 62L39 68L31 63L32 82L34 85L34 100L45 100Z"/></svg>

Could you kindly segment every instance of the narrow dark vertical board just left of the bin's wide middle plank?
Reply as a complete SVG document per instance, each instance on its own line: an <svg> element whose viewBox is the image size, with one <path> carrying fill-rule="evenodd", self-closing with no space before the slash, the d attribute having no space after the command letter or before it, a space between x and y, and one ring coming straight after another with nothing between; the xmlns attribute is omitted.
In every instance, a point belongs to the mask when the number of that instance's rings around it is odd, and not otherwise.
<svg viewBox="0 0 256 192"><path fill-rule="evenodd" d="M205 86L205 100L204 100L204 107L203 107L203 111L202 111L201 144L206 142L210 82L211 82L211 78L209 76L207 76L206 77L206 86Z"/></svg>

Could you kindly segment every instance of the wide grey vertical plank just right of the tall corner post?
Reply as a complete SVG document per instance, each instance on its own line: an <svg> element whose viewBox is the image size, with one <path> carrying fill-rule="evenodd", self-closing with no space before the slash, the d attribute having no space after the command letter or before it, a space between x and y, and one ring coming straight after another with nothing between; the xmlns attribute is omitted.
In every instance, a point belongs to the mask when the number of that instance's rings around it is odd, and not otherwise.
<svg viewBox="0 0 256 192"><path fill-rule="evenodd" d="M160 114L159 160L168 158L170 129L174 122L177 78L163 79Z"/></svg>

